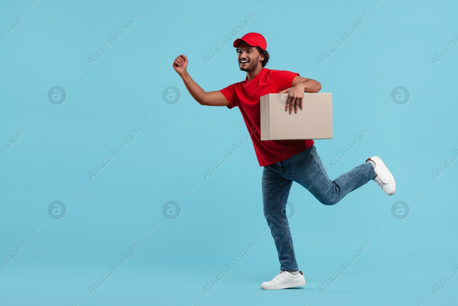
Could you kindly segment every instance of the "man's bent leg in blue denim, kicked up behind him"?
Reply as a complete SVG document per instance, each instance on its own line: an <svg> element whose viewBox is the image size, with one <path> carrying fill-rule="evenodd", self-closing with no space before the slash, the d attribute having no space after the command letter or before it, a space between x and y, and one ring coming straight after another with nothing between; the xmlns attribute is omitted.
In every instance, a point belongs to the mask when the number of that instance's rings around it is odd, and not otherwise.
<svg viewBox="0 0 458 306"><path fill-rule="evenodd" d="M374 179L376 174L372 164L366 161L331 181L315 145L280 164L286 169L287 178L301 184L325 205L336 204L349 192Z"/></svg>

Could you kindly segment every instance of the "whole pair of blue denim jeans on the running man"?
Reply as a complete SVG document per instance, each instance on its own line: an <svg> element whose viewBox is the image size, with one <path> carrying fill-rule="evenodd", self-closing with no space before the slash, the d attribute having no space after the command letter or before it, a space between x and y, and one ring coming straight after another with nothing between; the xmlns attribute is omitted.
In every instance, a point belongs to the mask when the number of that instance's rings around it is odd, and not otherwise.
<svg viewBox="0 0 458 306"><path fill-rule="evenodd" d="M350 191L374 178L374 167L367 161L331 181L315 145L284 161L265 166L262 172L264 216L277 247L280 270L299 270L285 215L293 181L310 191L322 204L334 205Z"/></svg>

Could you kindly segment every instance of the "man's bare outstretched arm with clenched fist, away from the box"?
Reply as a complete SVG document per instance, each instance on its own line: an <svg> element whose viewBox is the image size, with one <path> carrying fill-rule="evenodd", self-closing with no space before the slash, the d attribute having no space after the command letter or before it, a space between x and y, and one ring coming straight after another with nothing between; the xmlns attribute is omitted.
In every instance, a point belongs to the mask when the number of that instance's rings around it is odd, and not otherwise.
<svg viewBox="0 0 458 306"><path fill-rule="evenodd" d="M200 105L208 106L229 106L229 101L219 91L205 91L191 78L189 73L186 71L188 67L188 59L184 55L178 56L173 62L175 71L180 75L183 83L185 83L186 89L188 89L191 96Z"/></svg>

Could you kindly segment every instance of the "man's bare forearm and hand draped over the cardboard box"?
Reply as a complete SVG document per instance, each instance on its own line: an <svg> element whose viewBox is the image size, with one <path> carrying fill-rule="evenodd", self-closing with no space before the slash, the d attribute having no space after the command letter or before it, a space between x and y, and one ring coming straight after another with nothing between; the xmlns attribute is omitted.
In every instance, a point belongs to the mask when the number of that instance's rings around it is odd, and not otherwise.
<svg viewBox="0 0 458 306"><path fill-rule="evenodd" d="M300 109L303 108L302 106L302 99L304 98L304 92L308 93L317 93L321 90L321 83L315 81L311 78L302 78L296 75L293 79L293 83L291 87L280 91L281 94L288 93L288 99L286 100L286 108L285 111L289 109L289 113L293 111L297 113L297 107L300 106Z"/></svg>

